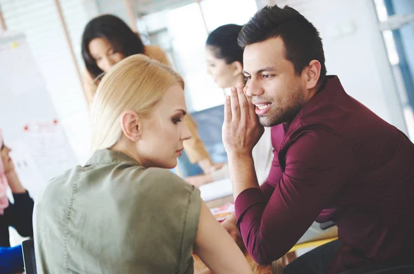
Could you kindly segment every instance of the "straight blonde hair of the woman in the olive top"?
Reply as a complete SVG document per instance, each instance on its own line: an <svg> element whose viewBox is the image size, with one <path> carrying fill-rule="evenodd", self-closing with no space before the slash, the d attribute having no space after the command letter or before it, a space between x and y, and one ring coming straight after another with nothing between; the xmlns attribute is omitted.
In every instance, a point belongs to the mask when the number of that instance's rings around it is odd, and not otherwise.
<svg viewBox="0 0 414 274"><path fill-rule="evenodd" d="M132 55L103 76L92 105L92 151L114 146L122 134L119 117L134 110L141 117L174 85L184 81L171 68L146 55Z"/></svg>

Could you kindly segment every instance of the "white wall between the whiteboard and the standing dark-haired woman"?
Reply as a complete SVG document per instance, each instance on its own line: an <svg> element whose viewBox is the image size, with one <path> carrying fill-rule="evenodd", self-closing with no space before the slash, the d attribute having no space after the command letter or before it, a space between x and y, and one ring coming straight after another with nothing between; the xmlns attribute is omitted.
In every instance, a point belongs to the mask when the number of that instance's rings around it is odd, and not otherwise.
<svg viewBox="0 0 414 274"><path fill-rule="evenodd" d="M81 68L81 34L90 18L89 13L93 12L94 8L93 5L83 2L61 0L63 14ZM79 163L85 162L90 155L88 108L68 43L63 35L55 1L0 0L0 4L8 32L22 32L26 35L70 145Z"/></svg>

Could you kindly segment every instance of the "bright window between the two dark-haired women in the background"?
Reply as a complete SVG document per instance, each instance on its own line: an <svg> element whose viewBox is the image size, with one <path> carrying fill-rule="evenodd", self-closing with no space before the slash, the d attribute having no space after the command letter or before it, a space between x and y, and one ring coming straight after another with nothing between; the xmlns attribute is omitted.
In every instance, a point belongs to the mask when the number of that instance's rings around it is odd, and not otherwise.
<svg viewBox="0 0 414 274"><path fill-rule="evenodd" d="M246 23L257 11L257 6L254 0L243 0L242 5L240 3L239 0L202 1L201 8L208 32L227 23ZM148 25L161 21L168 28L175 60L179 61L175 65L186 81L188 110L193 112L224 104L223 90L217 87L206 69L208 32L197 3L148 15L144 20Z"/></svg>

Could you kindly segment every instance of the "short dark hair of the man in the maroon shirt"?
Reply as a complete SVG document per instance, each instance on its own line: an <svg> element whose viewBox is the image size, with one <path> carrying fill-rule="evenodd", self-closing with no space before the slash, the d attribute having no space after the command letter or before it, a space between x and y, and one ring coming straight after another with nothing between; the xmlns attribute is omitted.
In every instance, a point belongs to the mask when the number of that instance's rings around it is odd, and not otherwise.
<svg viewBox="0 0 414 274"><path fill-rule="evenodd" d="M253 43L281 37L284 42L284 55L293 63L297 75L309 66L312 60L321 63L319 83L326 78L324 48L319 32L302 14L285 6L266 6L256 12L237 38L239 46L245 48Z"/></svg>

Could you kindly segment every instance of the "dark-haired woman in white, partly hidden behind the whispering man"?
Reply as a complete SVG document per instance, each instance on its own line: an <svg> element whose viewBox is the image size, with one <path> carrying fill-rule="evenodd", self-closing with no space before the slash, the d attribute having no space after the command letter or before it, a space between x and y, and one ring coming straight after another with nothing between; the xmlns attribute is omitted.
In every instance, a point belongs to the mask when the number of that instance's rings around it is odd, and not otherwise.
<svg viewBox="0 0 414 274"><path fill-rule="evenodd" d="M242 26L228 24L220 26L208 35L206 41L206 63L208 74L211 75L219 88L228 89L244 82L243 49L237 44L237 36ZM253 148L257 180L261 184L266 180L273 158L270 142L270 129ZM204 175L186 177L186 181L194 186L229 178L228 165Z"/></svg>

